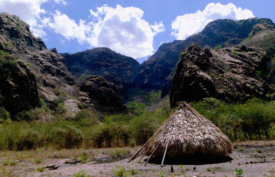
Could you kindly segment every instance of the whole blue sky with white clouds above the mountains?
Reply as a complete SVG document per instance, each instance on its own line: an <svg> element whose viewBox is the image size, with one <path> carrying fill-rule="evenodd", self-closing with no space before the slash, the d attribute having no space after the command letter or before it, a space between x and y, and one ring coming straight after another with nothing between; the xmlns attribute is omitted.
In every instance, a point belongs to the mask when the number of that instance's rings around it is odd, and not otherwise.
<svg viewBox="0 0 275 177"><path fill-rule="evenodd" d="M275 21L274 7L274 0L0 0L0 12L29 23L49 49L109 47L139 62L162 43L200 32L215 19Z"/></svg>

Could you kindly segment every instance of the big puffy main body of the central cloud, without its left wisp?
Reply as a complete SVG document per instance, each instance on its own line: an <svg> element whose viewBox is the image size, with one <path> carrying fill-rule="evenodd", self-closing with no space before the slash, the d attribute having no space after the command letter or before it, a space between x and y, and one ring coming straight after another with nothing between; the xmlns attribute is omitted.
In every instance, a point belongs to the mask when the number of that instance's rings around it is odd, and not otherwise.
<svg viewBox="0 0 275 177"><path fill-rule="evenodd" d="M163 30L155 25L155 29L159 29L155 31L142 19L144 12L140 8L122 8L120 5L111 8L104 5L95 14L98 22L94 24L93 35L89 38L92 46L110 47L133 58L153 54L153 37Z"/></svg>

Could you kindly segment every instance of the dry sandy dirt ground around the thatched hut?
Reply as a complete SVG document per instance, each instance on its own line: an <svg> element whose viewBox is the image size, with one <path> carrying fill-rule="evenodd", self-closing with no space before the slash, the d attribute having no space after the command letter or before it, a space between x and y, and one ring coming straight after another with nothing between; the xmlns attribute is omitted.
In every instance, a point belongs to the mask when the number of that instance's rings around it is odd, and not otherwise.
<svg viewBox="0 0 275 177"><path fill-rule="evenodd" d="M206 165L160 165L136 159L127 163L138 147L0 152L0 176L275 176L275 141L245 141L234 143L232 161ZM87 161L85 158L87 157ZM83 163L65 164L66 161ZM45 168L56 165L57 169ZM173 171L171 172L171 166ZM44 168L43 168L44 167Z"/></svg>

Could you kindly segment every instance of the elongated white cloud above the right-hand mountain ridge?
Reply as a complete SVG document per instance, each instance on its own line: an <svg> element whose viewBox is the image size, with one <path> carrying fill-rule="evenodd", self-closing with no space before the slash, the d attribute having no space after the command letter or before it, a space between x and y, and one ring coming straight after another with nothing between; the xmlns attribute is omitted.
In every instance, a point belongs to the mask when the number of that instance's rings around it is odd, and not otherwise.
<svg viewBox="0 0 275 177"><path fill-rule="evenodd" d="M254 17L251 10L237 8L233 3L222 5L221 3L208 3L201 12L177 16L172 22L173 32L177 39L184 40L188 36L200 32L208 23L217 19L241 20Z"/></svg>

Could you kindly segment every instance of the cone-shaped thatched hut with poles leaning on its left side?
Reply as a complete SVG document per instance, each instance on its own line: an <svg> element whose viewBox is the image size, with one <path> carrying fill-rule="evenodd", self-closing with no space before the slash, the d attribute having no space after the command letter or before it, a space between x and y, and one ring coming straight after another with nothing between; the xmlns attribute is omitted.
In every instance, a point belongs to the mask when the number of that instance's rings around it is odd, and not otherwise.
<svg viewBox="0 0 275 177"><path fill-rule="evenodd" d="M228 159L232 150L230 139L217 126L181 102L129 162L143 154L147 162L162 165L164 159L165 164L217 163Z"/></svg>

